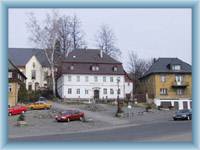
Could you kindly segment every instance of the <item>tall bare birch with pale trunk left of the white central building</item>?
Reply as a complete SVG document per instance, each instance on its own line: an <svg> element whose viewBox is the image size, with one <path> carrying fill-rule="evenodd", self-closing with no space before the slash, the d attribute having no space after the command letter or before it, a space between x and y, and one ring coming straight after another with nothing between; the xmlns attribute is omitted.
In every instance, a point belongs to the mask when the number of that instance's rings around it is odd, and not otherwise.
<svg viewBox="0 0 200 150"><path fill-rule="evenodd" d="M46 15L43 23L39 23L34 14L30 14L27 27L31 33L30 40L38 47L44 50L46 58L50 65L52 77L52 89L54 96L56 95L55 85L55 51L58 38L58 13Z"/></svg>

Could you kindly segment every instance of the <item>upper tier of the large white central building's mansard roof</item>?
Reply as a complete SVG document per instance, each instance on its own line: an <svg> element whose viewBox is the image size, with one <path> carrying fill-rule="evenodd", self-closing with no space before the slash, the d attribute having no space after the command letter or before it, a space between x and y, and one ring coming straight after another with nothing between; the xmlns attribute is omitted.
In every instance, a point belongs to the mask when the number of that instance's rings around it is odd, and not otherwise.
<svg viewBox="0 0 200 150"><path fill-rule="evenodd" d="M77 49L73 50L66 57L65 62L90 62L90 63L109 63L109 64L121 64L121 62L113 59L109 55L103 53L103 57L100 57L99 49Z"/></svg>

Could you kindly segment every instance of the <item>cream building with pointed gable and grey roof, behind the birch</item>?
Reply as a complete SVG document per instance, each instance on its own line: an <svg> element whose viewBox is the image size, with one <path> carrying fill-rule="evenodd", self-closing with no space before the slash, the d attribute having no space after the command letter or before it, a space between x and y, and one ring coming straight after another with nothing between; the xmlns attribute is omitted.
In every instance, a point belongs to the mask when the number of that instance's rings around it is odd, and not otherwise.
<svg viewBox="0 0 200 150"><path fill-rule="evenodd" d="M50 69L44 51L30 48L9 48L9 59L27 77L26 88L28 90L47 88Z"/></svg>

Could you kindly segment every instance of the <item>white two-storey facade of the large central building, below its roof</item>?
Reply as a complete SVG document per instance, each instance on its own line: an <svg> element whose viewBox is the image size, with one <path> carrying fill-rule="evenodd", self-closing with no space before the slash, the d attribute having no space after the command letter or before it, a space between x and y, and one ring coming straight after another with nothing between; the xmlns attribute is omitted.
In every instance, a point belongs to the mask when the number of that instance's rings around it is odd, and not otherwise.
<svg viewBox="0 0 200 150"><path fill-rule="evenodd" d="M117 99L118 88L120 99L132 91L130 85L125 88L124 75L63 74L57 80L58 94L66 99L93 99L95 95L98 99Z"/></svg>

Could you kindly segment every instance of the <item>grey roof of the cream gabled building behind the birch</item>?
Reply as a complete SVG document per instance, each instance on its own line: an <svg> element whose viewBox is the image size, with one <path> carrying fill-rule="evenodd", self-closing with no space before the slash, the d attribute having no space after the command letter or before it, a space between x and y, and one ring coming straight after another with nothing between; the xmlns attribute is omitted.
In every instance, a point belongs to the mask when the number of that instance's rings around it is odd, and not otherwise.
<svg viewBox="0 0 200 150"><path fill-rule="evenodd" d="M9 48L8 57L16 66L25 66L26 63L34 56L44 67L49 66L44 51L33 48Z"/></svg>

